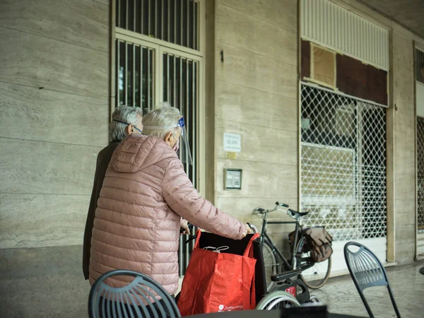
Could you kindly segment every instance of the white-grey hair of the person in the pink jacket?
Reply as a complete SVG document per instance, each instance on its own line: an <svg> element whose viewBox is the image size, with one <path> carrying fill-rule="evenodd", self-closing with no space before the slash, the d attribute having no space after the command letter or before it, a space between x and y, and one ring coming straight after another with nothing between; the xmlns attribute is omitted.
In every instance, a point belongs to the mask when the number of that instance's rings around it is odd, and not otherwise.
<svg viewBox="0 0 424 318"><path fill-rule="evenodd" d="M167 134L178 129L177 124L182 117L179 109L172 107L169 102L163 102L161 106L143 117L143 134L164 139Z"/></svg>

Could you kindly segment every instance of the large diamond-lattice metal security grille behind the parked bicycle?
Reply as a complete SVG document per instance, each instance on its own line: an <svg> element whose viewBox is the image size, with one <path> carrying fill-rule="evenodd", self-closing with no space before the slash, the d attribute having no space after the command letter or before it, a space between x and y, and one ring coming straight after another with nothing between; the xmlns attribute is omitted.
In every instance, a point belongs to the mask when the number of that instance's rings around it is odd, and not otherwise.
<svg viewBox="0 0 424 318"><path fill-rule="evenodd" d="M302 83L301 206L334 240L385 237L386 110Z"/></svg>

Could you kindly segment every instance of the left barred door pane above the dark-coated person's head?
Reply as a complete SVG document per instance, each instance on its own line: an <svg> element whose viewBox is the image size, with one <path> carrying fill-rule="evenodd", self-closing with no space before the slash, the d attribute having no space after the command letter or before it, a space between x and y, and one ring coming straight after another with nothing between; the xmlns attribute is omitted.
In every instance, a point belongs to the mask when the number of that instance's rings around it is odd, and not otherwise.
<svg viewBox="0 0 424 318"><path fill-rule="evenodd" d="M115 40L115 107L128 105L153 110L155 105L155 49Z"/></svg>

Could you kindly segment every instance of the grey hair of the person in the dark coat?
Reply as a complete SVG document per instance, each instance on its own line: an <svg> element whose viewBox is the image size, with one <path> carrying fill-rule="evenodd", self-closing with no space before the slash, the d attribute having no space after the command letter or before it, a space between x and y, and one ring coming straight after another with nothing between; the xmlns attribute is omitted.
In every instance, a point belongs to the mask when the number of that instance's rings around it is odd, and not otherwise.
<svg viewBox="0 0 424 318"><path fill-rule="evenodd" d="M112 113L112 121L109 124L109 141L122 141L126 137L126 122L137 126L139 117L143 117L143 110L140 107L118 106ZM115 122L119 120L119 122ZM137 126L142 130L143 127Z"/></svg>

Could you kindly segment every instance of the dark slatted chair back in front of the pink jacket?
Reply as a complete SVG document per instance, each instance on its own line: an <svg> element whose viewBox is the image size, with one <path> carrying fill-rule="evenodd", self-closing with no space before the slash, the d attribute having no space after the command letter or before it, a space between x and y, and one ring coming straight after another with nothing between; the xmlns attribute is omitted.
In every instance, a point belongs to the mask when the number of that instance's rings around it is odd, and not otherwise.
<svg viewBox="0 0 424 318"><path fill-rule="evenodd" d="M105 283L116 276L134 280L119 288ZM88 296L88 313L90 318L181 317L175 300L161 285L142 273L126 270L109 271L95 281Z"/></svg>

